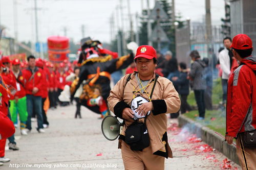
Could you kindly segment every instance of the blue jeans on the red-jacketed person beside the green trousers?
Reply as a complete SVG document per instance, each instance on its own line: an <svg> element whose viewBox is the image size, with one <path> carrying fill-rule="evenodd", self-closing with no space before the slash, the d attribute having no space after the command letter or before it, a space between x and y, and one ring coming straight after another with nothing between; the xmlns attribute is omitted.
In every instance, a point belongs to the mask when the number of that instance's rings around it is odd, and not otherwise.
<svg viewBox="0 0 256 170"><path fill-rule="evenodd" d="M28 120L27 129L31 130L31 117L33 111L37 115L37 130L44 128L42 126L42 98L40 96L34 96L27 94L27 110L28 110Z"/></svg>

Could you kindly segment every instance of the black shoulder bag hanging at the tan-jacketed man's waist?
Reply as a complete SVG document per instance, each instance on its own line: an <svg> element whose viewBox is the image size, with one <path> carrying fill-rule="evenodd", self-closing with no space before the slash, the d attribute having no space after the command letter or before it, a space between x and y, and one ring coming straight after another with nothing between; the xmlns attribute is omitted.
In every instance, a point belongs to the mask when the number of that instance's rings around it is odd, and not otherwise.
<svg viewBox="0 0 256 170"><path fill-rule="evenodd" d="M156 75L150 98L152 98L158 77L159 76ZM133 151L142 151L144 148L150 146L150 136L146 128L146 118L147 114L144 118L144 123L138 122L137 119L125 130L125 142L130 145Z"/></svg>

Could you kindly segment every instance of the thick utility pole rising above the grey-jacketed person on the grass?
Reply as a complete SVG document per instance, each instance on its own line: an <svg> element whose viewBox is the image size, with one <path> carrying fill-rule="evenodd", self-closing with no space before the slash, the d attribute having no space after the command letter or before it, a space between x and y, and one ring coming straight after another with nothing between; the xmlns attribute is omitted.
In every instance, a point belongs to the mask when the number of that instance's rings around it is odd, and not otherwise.
<svg viewBox="0 0 256 170"><path fill-rule="evenodd" d="M212 40L211 35L211 16L210 16L210 0L205 0L205 23L206 23L206 43L207 43L207 57L209 56L209 47Z"/></svg>

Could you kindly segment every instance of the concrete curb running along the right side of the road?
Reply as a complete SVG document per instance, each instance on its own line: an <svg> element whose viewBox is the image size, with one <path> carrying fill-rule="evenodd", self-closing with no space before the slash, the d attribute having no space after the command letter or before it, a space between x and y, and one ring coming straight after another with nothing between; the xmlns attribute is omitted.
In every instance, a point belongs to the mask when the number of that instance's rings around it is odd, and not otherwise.
<svg viewBox="0 0 256 170"><path fill-rule="evenodd" d="M219 152L223 153L226 157L228 157L228 159L234 161L237 164L240 164L237 156L236 147L233 144L227 144L227 142L225 142L222 137L217 135L215 131L204 127L201 124L183 115L180 115L178 117L178 121L180 127L188 126L191 133L197 134L198 137L200 137L204 142L211 145L212 148L217 149Z"/></svg>

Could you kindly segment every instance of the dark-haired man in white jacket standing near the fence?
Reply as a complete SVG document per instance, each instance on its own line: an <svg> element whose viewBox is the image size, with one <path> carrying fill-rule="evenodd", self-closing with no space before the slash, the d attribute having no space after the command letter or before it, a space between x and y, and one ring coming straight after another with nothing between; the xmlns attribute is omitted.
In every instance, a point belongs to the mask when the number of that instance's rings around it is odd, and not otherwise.
<svg viewBox="0 0 256 170"><path fill-rule="evenodd" d="M222 69L221 84L222 84L222 91L223 91L223 97L222 97L223 104L225 104L227 101L227 80L229 78L230 69L232 66L233 54L230 50L231 43L232 43L231 38L225 37L223 39L223 44L225 48L219 54L220 66Z"/></svg>

